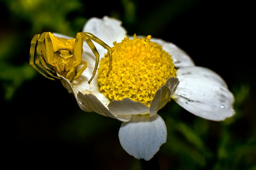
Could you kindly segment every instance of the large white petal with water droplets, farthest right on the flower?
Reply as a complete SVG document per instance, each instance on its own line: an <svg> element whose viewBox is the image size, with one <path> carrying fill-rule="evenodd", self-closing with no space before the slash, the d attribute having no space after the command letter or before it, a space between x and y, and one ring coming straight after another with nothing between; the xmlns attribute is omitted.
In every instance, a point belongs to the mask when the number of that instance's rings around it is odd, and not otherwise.
<svg viewBox="0 0 256 170"><path fill-rule="evenodd" d="M189 112L213 121L222 121L235 114L234 96L226 82L204 67L177 70L180 84L172 98Z"/></svg>

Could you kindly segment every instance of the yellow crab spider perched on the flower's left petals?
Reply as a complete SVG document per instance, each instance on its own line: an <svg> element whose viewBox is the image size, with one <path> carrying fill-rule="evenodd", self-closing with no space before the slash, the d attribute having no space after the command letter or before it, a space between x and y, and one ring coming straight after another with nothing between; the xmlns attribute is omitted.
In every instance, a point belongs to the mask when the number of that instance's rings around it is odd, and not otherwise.
<svg viewBox="0 0 256 170"><path fill-rule="evenodd" d="M111 48L92 33L77 33L74 39L56 37L51 32L44 32L41 35L36 34L31 40L29 63L43 76L52 80L61 79L56 72L68 78L77 69L76 66L83 65L78 72L76 71L73 78L69 78L72 82L87 67L87 62L82 61L83 43L85 41L96 57L92 78L88 81L90 84L96 74L100 58L92 40L110 52L108 76L112 65Z"/></svg>

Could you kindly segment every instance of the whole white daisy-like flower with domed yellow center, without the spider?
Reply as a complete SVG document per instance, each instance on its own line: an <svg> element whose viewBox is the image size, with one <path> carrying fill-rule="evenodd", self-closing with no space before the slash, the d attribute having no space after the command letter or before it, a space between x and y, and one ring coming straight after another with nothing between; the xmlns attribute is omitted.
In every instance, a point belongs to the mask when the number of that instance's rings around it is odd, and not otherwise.
<svg viewBox="0 0 256 170"><path fill-rule="evenodd" d="M195 66L176 45L151 36L129 37L120 21L107 16L89 19L83 32L93 33L112 47L112 71L106 77L109 57L104 55L108 53L95 44L101 61L88 85L94 56L84 45L86 70L72 84L65 78L62 83L85 112L123 122L120 144L135 158L151 159L166 142L166 126L157 111L171 98L204 119L222 121L235 114L234 97L225 81L212 70Z"/></svg>

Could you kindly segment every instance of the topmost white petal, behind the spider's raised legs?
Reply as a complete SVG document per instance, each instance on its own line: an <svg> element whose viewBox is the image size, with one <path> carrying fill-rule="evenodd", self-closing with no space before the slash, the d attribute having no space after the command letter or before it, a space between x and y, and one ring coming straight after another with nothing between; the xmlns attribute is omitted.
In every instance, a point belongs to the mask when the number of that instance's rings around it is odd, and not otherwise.
<svg viewBox="0 0 256 170"><path fill-rule="evenodd" d="M126 30L121 26L122 22L115 19L104 16L101 18L90 18L86 22L83 32L89 32L94 34L100 40L104 41L108 46L113 47L113 42L121 42L126 37ZM107 50L102 51L102 47L95 44L99 50L100 55L106 53Z"/></svg>

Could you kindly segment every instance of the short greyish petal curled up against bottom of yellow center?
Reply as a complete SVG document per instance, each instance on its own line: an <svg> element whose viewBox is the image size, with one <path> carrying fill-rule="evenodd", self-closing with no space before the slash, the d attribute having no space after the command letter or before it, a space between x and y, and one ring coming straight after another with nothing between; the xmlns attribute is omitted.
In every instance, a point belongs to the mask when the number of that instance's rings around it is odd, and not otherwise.
<svg viewBox="0 0 256 170"><path fill-rule="evenodd" d="M108 105L108 109L114 115L138 115L149 113L149 107L129 98L112 100Z"/></svg>

